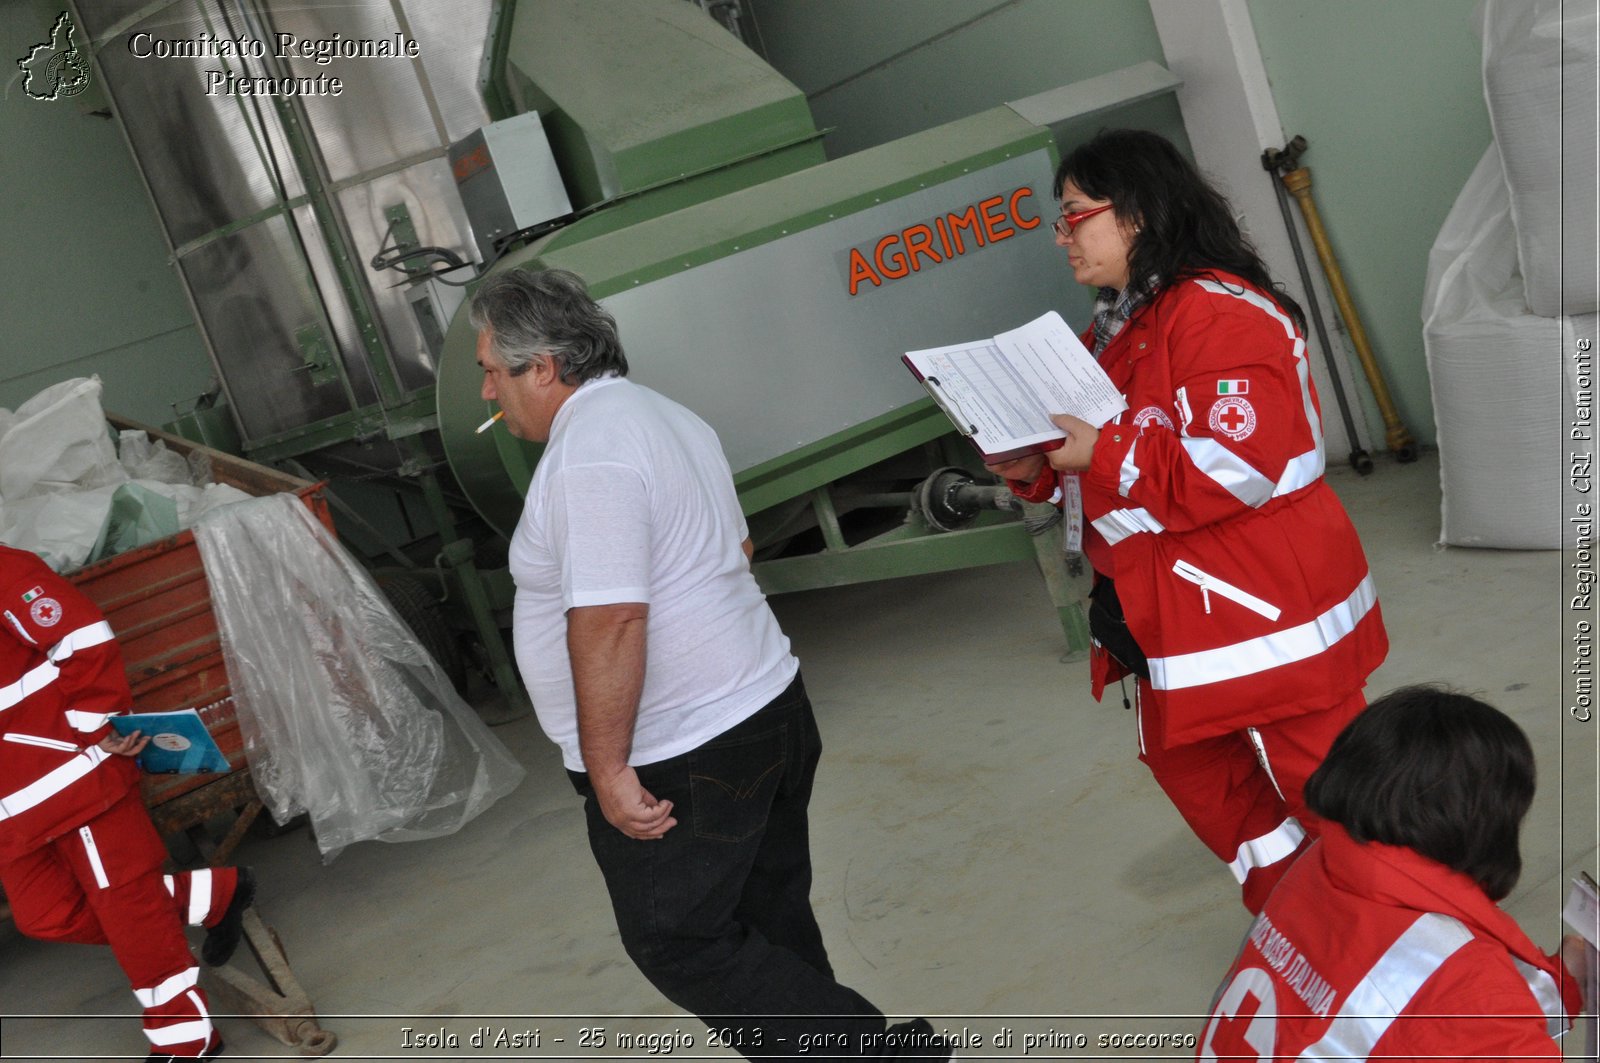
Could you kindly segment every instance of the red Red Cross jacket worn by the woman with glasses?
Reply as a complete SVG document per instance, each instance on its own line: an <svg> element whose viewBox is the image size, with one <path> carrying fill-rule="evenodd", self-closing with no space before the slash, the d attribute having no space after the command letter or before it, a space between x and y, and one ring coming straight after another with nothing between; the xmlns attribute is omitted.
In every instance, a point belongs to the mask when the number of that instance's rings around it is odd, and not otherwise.
<svg viewBox="0 0 1600 1063"><path fill-rule="evenodd" d="M1091 336L1085 335L1085 343ZM1114 576L1178 746L1331 708L1389 650L1355 527L1322 479L1306 341L1232 274L1160 291L1099 357L1128 410L1078 474L1085 552ZM1050 495L1051 477L1013 485ZM1096 647L1098 698L1120 666Z"/></svg>

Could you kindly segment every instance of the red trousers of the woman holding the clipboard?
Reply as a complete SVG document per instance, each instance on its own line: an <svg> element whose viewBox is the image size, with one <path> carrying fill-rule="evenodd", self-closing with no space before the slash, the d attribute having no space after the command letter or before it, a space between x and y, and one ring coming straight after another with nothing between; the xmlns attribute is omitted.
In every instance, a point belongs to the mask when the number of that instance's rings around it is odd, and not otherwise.
<svg viewBox="0 0 1600 1063"><path fill-rule="evenodd" d="M1365 708L1366 696L1357 690L1322 712L1157 749L1146 746L1144 735L1165 733L1150 725L1158 724L1160 709L1139 680L1139 759L1195 836L1238 879L1253 914L1320 834L1320 820L1306 807L1306 780Z"/></svg>

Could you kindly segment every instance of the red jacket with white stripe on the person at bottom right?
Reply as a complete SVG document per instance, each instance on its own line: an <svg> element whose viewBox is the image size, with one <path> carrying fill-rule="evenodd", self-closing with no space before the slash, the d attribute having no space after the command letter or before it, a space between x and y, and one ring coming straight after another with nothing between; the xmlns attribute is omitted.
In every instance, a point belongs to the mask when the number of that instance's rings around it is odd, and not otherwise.
<svg viewBox="0 0 1600 1063"><path fill-rule="evenodd" d="M1579 1007L1477 882L1330 823L1250 927L1197 1058L1558 1060Z"/></svg>

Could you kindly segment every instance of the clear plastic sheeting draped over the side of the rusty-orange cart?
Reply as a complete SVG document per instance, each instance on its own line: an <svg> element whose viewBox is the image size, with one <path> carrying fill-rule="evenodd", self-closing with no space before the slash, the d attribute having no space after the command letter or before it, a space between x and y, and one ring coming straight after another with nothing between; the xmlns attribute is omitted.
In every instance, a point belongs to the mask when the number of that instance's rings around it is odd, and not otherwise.
<svg viewBox="0 0 1600 1063"><path fill-rule="evenodd" d="M195 525L256 792L323 860L450 834L523 768L362 565L293 495Z"/></svg>

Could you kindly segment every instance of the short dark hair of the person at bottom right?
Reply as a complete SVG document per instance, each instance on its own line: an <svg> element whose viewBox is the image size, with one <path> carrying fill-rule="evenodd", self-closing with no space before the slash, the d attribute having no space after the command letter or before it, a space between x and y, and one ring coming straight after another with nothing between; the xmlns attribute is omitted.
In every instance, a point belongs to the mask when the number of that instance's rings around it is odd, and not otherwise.
<svg viewBox="0 0 1600 1063"><path fill-rule="evenodd" d="M1306 804L1357 842L1405 845L1502 900L1522 874L1533 746L1494 706L1402 687L1350 720L1306 783Z"/></svg>

